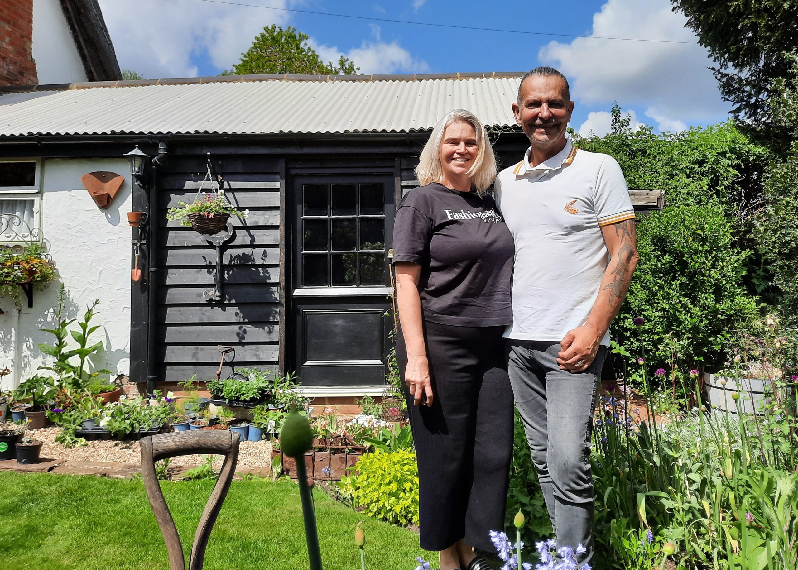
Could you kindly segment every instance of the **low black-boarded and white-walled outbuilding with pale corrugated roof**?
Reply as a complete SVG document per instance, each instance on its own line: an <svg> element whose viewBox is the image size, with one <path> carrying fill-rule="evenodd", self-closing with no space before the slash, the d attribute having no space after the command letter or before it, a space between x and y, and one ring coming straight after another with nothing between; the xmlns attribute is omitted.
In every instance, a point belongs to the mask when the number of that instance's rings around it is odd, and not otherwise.
<svg viewBox="0 0 798 570"><path fill-rule="evenodd" d="M104 367L134 382L213 378L222 344L235 347L236 365L297 372L308 396L378 395L393 345L393 214L416 185L417 157L433 125L460 107L488 125L500 164L515 164L527 148L511 109L519 76L2 88L0 213L41 230L74 307L100 299ZM136 145L147 157L132 176L123 155ZM81 184L91 172L123 182L98 199ZM249 210L247 220L231 218L218 250L166 218L207 172ZM662 207L658 192L633 198L636 208ZM129 227L127 212L144 222ZM141 276L132 280L136 253ZM38 329L55 289L20 311L2 305L0 353L12 355L16 382L41 363Z"/></svg>

